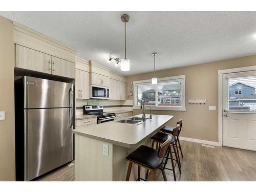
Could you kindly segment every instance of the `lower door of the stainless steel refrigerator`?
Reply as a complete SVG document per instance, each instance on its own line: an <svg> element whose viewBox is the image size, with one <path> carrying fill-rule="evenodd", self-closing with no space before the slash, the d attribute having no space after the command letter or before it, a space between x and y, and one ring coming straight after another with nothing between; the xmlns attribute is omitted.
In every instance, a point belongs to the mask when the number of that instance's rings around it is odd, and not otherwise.
<svg viewBox="0 0 256 192"><path fill-rule="evenodd" d="M69 109L25 110L25 180L31 180L73 160Z"/></svg>

